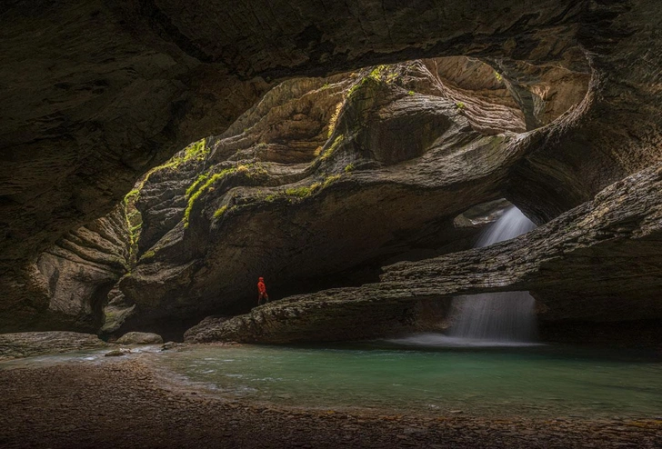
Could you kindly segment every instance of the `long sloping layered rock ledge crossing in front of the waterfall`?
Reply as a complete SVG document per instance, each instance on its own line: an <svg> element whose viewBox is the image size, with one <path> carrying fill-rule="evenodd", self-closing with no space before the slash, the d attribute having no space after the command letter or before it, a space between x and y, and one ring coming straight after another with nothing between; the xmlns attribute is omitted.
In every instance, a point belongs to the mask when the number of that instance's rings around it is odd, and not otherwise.
<svg viewBox="0 0 662 449"><path fill-rule="evenodd" d="M657 325L648 321L647 327L659 329L660 187L662 165L657 165L608 186L594 201L516 239L394 264L386 267L380 284L287 298L198 328L188 339L324 340L328 326L337 326L325 321L328 309L358 309L370 323L372 313L396 303L414 305L426 298L447 304L457 294L516 290L528 290L542 303L540 318L546 324L656 320ZM354 333L339 333L336 339L356 338L366 327L351 328Z"/></svg>

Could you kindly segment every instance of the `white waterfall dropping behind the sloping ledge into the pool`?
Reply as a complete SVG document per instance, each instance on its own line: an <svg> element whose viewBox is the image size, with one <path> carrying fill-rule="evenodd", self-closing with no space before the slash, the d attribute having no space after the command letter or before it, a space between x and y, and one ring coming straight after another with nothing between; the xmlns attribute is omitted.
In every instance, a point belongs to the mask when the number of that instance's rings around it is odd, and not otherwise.
<svg viewBox="0 0 662 449"><path fill-rule="evenodd" d="M489 246L534 229L513 206L487 229L476 246ZM536 337L536 302L527 292L506 292L460 296L453 301L456 322L450 335L470 340L527 342Z"/></svg>

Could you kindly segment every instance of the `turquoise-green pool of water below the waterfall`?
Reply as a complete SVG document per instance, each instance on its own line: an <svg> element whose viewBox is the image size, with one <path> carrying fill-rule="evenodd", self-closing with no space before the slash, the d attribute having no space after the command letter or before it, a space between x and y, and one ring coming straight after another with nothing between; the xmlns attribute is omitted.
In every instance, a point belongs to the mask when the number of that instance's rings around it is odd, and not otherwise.
<svg viewBox="0 0 662 449"><path fill-rule="evenodd" d="M228 398L440 414L662 415L652 353L567 347L201 346L160 363Z"/></svg>

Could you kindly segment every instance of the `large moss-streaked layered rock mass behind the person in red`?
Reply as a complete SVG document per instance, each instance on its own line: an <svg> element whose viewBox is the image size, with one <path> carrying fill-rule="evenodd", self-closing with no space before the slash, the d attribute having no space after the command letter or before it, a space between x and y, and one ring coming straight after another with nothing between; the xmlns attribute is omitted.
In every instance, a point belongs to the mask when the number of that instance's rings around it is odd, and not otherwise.
<svg viewBox="0 0 662 449"><path fill-rule="evenodd" d="M150 172L136 194L139 258L119 284L137 312L120 331L247 310L260 275L282 297L470 247L480 226L454 219L502 195L519 151L504 133L525 124L483 87L466 113L444 64L287 82L225 135Z"/></svg>

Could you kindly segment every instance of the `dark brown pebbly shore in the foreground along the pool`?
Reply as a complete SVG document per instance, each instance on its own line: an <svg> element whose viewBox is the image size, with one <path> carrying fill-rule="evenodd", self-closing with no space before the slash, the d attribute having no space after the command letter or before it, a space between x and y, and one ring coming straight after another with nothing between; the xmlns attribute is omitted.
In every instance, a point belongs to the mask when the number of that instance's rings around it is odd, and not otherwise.
<svg viewBox="0 0 662 449"><path fill-rule="evenodd" d="M380 415L226 402L141 360L0 371L0 447L662 447L662 421Z"/></svg>

